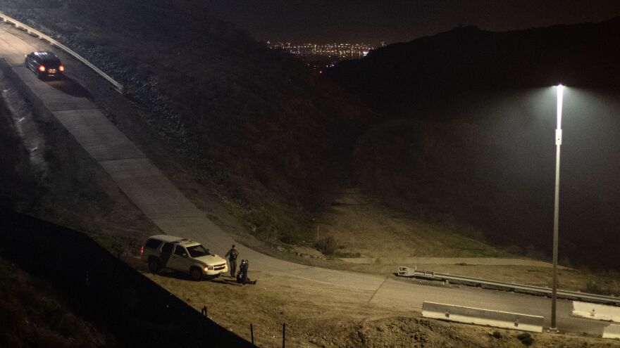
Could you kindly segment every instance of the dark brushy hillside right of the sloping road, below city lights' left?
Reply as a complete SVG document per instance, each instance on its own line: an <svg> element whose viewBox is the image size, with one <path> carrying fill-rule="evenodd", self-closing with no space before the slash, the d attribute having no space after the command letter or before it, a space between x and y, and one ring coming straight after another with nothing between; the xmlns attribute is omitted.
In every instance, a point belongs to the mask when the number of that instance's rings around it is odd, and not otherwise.
<svg viewBox="0 0 620 348"><path fill-rule="evenodd" d="M235 202L259 233L320 207L347 176L368 113L302 63L209 13L208 1L14 1L127 86L184 167Z"/></svg>

